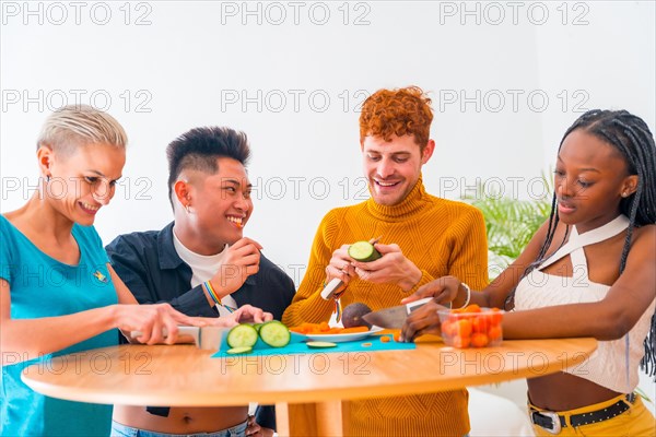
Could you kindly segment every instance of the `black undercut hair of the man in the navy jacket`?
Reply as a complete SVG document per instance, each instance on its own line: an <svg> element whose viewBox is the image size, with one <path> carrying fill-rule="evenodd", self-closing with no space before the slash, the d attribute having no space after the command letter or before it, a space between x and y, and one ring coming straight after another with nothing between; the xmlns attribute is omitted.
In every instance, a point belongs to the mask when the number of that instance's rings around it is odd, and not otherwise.
<svg viewBox="0 0 656 437"><path fill-rule="evenodd" d="M168 200L173 206L173 186L184 170L214 175L218 160L230 157L247 166L250 146L246 133L224 127L195 128L176 138L166 147L168 160Z"/></svg>

